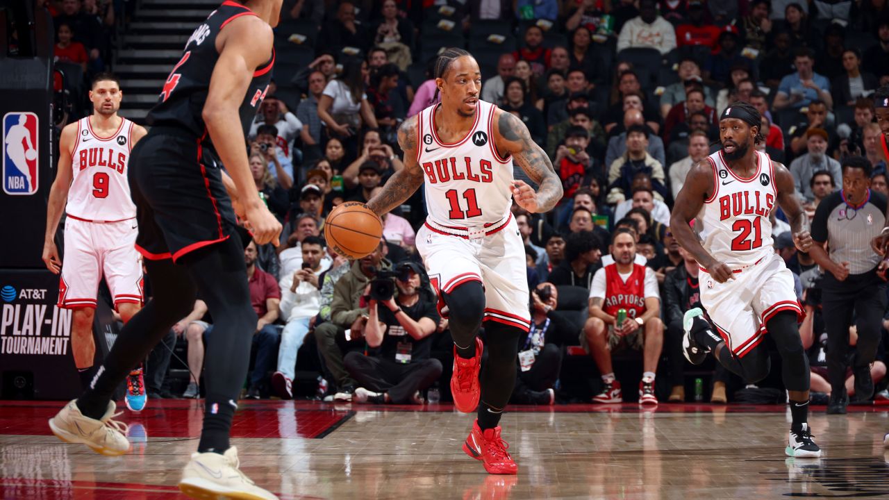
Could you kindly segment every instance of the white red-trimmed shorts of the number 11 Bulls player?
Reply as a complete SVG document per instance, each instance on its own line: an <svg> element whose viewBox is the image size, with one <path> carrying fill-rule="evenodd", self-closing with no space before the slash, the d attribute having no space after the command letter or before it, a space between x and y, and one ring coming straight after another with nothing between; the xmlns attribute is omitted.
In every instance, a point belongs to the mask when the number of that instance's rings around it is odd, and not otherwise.
<svg viewBox="0 0 889 500"><path fill-rule="evenodd" d="M480 281L485 287L485 321L527 332L531 312L525 244L512 215L504 219L477 231L427 220L417 232L416 246L439 294L439 311L445 305L442 292L450 293L467 281Z"/></svg>

